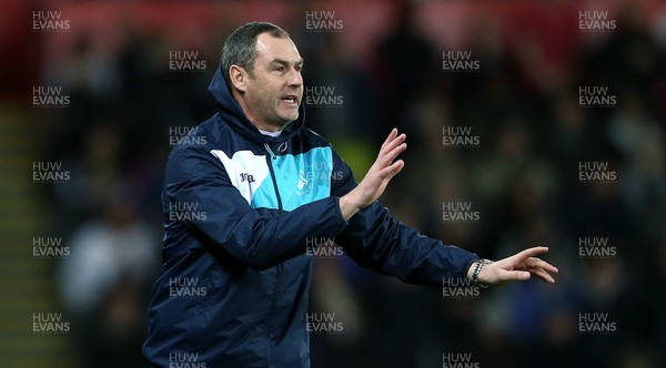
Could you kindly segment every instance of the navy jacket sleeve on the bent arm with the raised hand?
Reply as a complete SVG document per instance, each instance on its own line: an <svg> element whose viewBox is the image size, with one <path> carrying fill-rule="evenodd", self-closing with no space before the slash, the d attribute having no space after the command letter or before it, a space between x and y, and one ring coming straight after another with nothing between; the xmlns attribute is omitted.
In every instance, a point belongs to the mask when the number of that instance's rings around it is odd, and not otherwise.
<svg viewBox="0 0 666 368"><path fill-rule="evenodd" d="M189 251L167 248L191 247L182 239L195 234L242 265L266 269L305 253L306 237L337 235L346 225L339 201L327 197L292 212L252 208L211 153L192 145L176 146L167 164L163 211L169 216L170 208L183 209L173 204L189 205L199 216L181 215L183 221L167 221L164 251ZM173 239L168 242L170 236Z"/></svg>

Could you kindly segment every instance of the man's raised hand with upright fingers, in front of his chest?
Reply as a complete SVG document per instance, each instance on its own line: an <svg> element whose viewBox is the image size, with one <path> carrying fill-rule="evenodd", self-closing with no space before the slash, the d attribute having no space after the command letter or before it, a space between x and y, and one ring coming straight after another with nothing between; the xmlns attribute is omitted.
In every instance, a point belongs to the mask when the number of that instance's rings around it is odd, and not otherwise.
<svg viewBox="0 0 666 368"><path fill-rule="evenodd" d="M407 144L404 143L405 139L404 133L398 135L397 129L393 129L382 144L377 160L372 164L359 186L340 198L340 208L345 219L377 200L393 176L397 175L405 166L404 161L395 161L397 155L407 147Z"/></svg>

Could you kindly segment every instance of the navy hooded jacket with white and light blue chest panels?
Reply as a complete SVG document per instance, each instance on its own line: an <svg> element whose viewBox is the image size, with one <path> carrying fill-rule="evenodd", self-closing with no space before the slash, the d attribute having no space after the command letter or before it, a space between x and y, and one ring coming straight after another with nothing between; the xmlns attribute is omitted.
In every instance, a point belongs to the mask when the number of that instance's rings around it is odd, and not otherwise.
<svg viewBox="0 0 666 368"><path fill-rule="evenodd" d="M310 367L307 239L335 237L364 267L414 284L465 277L476 255L390 216L379 202L345 222L350 167L304 111L263 135L218 69L219 112L173 147L162 207L162 274L149 308L144 356L159 367Z"/></svg>

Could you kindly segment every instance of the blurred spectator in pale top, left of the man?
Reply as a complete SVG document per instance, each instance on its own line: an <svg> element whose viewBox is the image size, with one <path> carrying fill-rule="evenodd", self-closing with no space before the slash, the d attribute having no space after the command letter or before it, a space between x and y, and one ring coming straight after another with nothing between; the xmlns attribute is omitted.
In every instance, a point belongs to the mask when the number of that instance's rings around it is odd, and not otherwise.
<svg viewBox="0 0 666 368"><path fill-rule="evenodd" d="M80 341L82 367L142 367L149 287L159 270L159 237L128 201L108 188L102 213L71 236L60 294Z"/></svg>

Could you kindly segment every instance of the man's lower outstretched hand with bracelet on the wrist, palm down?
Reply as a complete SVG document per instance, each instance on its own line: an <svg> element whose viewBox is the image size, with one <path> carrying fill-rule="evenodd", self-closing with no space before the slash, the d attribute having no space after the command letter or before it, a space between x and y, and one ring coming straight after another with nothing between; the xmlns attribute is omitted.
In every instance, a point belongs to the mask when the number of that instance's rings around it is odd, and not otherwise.
<svg viewBox="0 0 666 368"><path fill-rule="evenodd" d="M478 274L478 282L486 285L500 285L515 280L526 280L536 275L546 283L553 284L555 279L551 274L558 272L557 267L536 258L536 255L548 252L547 247L538 246L519 252L511 257L484 265ZM474 265L470 267L467 276L472 276Z"/></svg>

